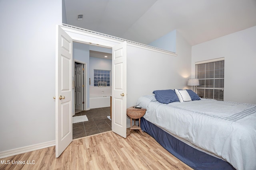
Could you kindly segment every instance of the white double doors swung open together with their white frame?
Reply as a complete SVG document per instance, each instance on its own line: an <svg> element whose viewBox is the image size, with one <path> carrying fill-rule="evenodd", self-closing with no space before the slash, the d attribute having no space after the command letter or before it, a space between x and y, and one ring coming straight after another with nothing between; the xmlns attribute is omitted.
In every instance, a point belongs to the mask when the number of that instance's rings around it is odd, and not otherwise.
<svg viewBox="0 0 256 170"><path fill-rule="evenodd" d="M78 34L79 32L79 34ZM70 33L70 35L68 35ZM88 34L90 36L88 36ZM101 47L112 48L112 54L114 60L112 60L112 131L118 135L126 137L126 49L127 43L120 40L110 41L108 37L98 38L98 35L87 31L75 30L74 28L68 28L65 26L56 26L56 92L55 96L58 96L58 102L56 102L56 157L66 149L66 147L72 142L72 112L74 113L74 98L72 99L72 71L73 71L73 45L75 41L80 43L95 44ZM80 36L80 37L78 37ZM105 42L103 40L106 40ZM72 43L73 41L73 43ZM100 41L100 42L99 42ZM88 43L89 42L89 43ZM62 50L64 49L64 50ZM68 49L68 51L67 51ZM70 58L65 58L66 53ZM74 61L74 60L73 60ZM68 65L68 68L63 68L62 63ZM89 63L89 62L86 62ZM60 70L60 68L63 68ZM87 67L86 67L87 68ZM118 68L118 69L116 69ZM62 74L63 73L63 74ZM122 74L120 74L122 73ZM89 80L89 78L86 78ZM63 87L63 83L59 80L66 82ZM88 81L89 82L89 81ZM64 89L64 92L59 92L59 89ZM115 93L113 93L115 91ZM65 97L67 96L67 97ZM57 98L56 98L57 99ZM63 100L62 100L63 99ZM64 108L62 103L69 104L70 108ZM88 102L88 101L87 101ZM86 102L86 103L87 103ZM73 104L72 104L73 103ZM72 106L73 105L73 106ZM72 108L73 107L73 108ZM65 114L63 113L65 111ZM66 113L67 112L67 113ZM64 117L63 119L63 116ZM65 140L64 140L65 139Z"/></svg>

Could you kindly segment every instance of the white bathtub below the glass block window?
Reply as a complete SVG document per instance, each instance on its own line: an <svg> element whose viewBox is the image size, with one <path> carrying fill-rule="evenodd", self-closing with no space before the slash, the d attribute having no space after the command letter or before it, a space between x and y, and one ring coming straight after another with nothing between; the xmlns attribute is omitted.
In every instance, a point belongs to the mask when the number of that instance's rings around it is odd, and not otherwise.
<svg viewBox="0 0 256 170"><path fill-rule="evenodd" d="M90 109L110 107L110 96L90 96Z"/></svg>

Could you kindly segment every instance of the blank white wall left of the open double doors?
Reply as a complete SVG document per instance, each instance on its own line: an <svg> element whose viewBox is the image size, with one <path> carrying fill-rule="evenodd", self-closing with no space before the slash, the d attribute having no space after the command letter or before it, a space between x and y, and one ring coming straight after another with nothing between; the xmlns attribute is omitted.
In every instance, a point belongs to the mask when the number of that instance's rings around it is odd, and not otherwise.
<svg viewBox="0 0 256 170"><path fill-rule="evenodd" d="M0 1L0 152L55 140L62 0Z"/></svg>

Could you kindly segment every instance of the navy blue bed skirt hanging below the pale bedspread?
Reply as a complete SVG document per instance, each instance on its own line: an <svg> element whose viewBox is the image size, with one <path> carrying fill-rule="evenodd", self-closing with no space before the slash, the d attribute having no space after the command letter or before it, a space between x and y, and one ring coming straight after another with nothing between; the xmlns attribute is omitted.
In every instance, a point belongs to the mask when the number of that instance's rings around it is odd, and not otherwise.
<svg viewBox="0 0 256 170"><path fill-rule="evenodd" d="M195 170L235 170L228 162L201 152L141 118L141 129L171 154Z"/></svg>

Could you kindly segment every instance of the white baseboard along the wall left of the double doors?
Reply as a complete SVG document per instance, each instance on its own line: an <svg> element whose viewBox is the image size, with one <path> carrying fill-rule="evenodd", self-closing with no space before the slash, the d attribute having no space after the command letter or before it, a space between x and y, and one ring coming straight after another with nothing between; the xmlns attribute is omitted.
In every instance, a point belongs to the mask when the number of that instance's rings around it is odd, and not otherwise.
<svg viewBox="0 0 256 170"><path fill-rule="evenodd" d="M2 151L0 152L0 158L6 158L8 156L13 156L16 154L22 154L22 153L26 153L26 152L30 152L33 150L38 150L38 149L43 149L43 148L47 148L47 147L52 147L55 146L55 141L49 141L49 142L45 142L45 143L39 143L36 145L30 145L27 147L22 147L22 148L17 148L17 149L12 149L12 150L6 150L6 151Z"/></svg>

